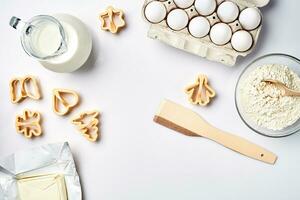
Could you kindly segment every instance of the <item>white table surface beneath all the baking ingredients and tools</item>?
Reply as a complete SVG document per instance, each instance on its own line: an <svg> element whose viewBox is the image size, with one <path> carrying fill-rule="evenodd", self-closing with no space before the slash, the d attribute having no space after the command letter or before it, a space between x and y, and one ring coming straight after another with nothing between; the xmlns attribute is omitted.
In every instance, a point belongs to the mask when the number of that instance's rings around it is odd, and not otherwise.
<svg viewBox="0 0 300 200"><path fill-rule="evenodd" d="M120 35L100 30L98 15L108 5L124 9L127 28ZM300 57L300 1L272 0L262 9L264 27L255 51L233 68L209 62L147 38L143 1L2 0L0 4L0 156L46 143L68 141L76 159L86 200L300 199L300 134L271 139L251 131L239 118L234 87L243 68L271 52ZM93 35L93 56L84 69L57 74L44 69L21 49L8 25L23 19L65 12L84 21ZM217 98L206 108L192 106L183 88L198 73L207 74ZM10 103L12 77L40 79L43 100ZM51 109L51 90L78 91L82 104L67 117ZM248 138L278 155L268 165L239 155L204 138L187 137L152 121L160 101L185 105L215 126ZM14 118L23 109L39 110L43 137L17 134ZM69 123L85 109L102 112L101 140L85 140Z"/></svg>

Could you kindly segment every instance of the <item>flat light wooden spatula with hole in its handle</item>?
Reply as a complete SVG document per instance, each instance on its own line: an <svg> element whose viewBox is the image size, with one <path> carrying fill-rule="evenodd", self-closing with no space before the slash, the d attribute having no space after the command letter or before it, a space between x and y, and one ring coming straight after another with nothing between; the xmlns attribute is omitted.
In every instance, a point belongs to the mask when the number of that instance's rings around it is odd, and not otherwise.
<svg viewBox="0 0 300 200"><path fill-rule="evenodd" d="M272 152L244 138L213 127L197 113L169 100L164 100L161 103L154 121L188 136L202 136L211 139L256 160L274 164L277 159L277 156Z"/></svg>

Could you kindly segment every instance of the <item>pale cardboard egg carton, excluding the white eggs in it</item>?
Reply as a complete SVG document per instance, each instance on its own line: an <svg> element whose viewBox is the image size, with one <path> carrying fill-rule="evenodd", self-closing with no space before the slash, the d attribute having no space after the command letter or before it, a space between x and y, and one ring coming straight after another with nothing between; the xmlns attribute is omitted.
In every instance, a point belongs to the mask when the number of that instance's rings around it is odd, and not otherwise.
<svg viewBox="0 0 300 200"><path fill-rule="evenodd" d="M146 0L143 5L142 13L146 21L148 20L145 17L144 10L146 5L151 1L153 0ZM173 0L160 0L160 1L165 5L167 13L169 13L171 10L175 8L179 8L176 6ZM225 0L216 0L217 8L224 1ZM240 11L242 11L247 7L257 7L257 8L263 7L267 5L269 2L269 0L231 0L231 1L237 4ZM194 4L191 7L183 10L185 10L186 13L188 14L189 20L191 20L195 16L201 16L196 11ZM214 24L221 22L221 20L218 18L216 10L211 15L204 16L204 17L208 19L211 27ZM236 19L234 22L228 23L228 25L231 27L232 33L238 30L242 30L242 26L239 23L238 19ZM228 66L233 66L238 56L244 57L252 52L252 50L256 46L261 27L262 27L262 23L260 23L260 25L256 29L252 31L248 31L252 35L253 45L249 50L245 52L238 52L234 50L230 42L222 46L216 45L210 40L209 34L203 38L195 38L189 33L188 27L185 27L183 30L180 31L174 31L168 27L166 18L158 24L150 25L148 31L148 37L152 39L160 40L170 46L196 54L208 60L217 61Z"/></svg>

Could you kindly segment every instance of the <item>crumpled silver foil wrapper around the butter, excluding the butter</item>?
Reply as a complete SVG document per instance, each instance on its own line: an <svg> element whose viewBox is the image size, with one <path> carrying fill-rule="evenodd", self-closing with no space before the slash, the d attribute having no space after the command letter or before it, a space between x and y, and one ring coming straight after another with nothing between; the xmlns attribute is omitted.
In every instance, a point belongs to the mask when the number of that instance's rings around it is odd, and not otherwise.
<svg viewBox="0 0 300 200"><path fill-rule="evenodd" d="M18 180L63 175L68 200L81 200L80 179L68 143L47 144L14 153L0 160L0 200L19 200Z"/></svg>

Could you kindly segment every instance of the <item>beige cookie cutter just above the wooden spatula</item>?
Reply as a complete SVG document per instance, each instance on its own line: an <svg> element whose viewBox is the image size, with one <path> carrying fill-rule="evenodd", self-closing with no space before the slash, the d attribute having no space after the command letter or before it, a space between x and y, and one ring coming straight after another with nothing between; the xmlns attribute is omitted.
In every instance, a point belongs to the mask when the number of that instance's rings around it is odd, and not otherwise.
<svg viewBox="0 0 300 200"><path fill-rule="evenodd" d="M200 106L206 106L216 96L216 92L208 85L207 76L203 74L198 75L196 83L188 86L185 92L189 95L192 104Z"/></svg>

